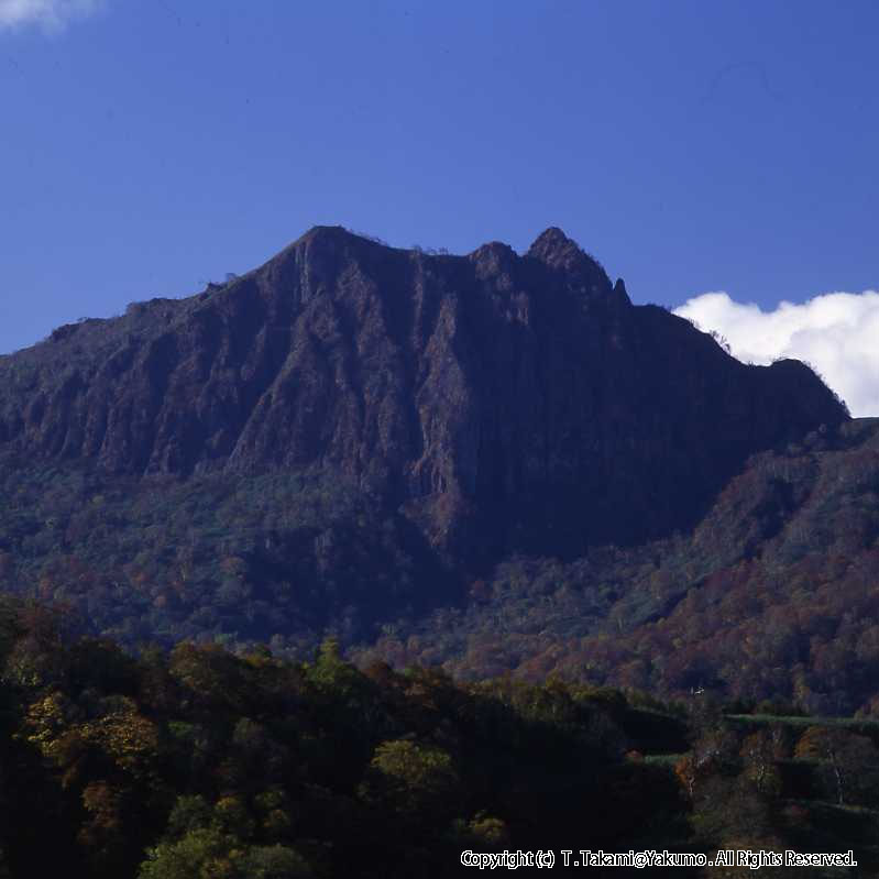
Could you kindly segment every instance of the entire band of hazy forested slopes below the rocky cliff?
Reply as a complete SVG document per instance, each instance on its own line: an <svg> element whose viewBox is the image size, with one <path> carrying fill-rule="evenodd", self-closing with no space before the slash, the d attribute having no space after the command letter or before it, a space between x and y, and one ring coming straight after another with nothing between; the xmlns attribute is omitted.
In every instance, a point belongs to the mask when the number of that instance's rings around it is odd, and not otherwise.
<svg viewBox="0 0 879 879"><path fill-rule="evenodd" d="M756 455L690 534L481 573L332 475L141 481L22 462L3 471L0 584L130 647L301 658L333 634L363 663L876 714L878 427Z"/></svg>

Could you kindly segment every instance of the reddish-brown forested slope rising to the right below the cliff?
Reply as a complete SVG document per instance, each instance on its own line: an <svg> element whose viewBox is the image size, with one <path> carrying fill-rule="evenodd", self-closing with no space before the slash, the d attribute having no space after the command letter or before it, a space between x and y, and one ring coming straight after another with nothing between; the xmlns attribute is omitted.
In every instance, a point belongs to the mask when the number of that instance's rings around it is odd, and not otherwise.
<svg viewBox="0 0 879 879"><path fill-rule="evenodd" d="M879 714L879 419L756 455L691 534L505 561L362 656Z"/></svg>

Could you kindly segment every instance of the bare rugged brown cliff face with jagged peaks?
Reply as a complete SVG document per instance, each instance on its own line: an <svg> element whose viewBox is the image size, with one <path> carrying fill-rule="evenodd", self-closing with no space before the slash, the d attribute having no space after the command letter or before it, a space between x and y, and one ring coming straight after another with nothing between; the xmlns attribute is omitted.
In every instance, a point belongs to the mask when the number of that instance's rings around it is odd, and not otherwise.
<svg viewBox="0 0 879 879"><path fill-rule="evenodd" d="M0 450L108 472L320 469L453 554L570 554L686 527L755 451L847 418L633 306L558 229L525 255L316 228L182 300L0 358Z"/></svg>

